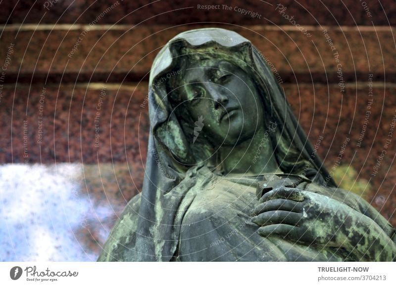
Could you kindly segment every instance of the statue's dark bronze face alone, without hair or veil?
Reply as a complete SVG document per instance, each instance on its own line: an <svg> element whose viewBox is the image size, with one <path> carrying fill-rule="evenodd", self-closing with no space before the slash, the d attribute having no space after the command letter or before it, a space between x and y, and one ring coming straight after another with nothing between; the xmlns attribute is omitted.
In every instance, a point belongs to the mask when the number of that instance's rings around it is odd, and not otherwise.
<svg viewBox="0 0 396 286"><path fill-rule="evenodd" d="M179 108L187 108L200 131L216 144L235 145L253 137L263 124L256 85L247 73L225 60L188 65ZM199 129L199 130L198 130Z"/></svg>

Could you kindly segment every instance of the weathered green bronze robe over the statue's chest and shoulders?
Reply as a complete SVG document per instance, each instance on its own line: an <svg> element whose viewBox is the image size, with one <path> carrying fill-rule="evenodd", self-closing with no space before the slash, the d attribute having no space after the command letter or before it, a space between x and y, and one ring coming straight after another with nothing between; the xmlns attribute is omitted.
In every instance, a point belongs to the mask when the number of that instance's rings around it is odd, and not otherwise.
<svg viewBox="0 0 396 286"><path fill-rule="evenodd" d="M171 261L365 261L340 247L306 245L277 236L262 237L259 226L251 222L258 204L257 182L260 176L217 176L207 168L195 172L195 184L186 193L176 212L177 248ZM208 175L211 174L211 175ZM373 220L392 237L394 229L371 205L342 189L326 188L302 182L299 189L319 193L347 204ZM141 197L128 204L104 246L99 261L133 261ZM163 210L166 211L166 210ZM329 228L335 223L329 219ZM153 230L155 232L155 229ZM358 230L356 230L358 231ZM163 242L155 242L158 253Z"/></svg>

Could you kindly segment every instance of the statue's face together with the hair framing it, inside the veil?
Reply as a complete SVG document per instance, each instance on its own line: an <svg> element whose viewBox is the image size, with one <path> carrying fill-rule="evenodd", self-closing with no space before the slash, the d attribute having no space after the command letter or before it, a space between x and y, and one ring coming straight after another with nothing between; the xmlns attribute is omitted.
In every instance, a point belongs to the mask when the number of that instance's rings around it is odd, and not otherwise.
<svg viewBox="0 0 396 286"><path fill-rule="evenodd" d="M216 148L237 146L262 126L260 91L241 60L221 51L191 50L178 58L177 68L179 73L168 82L168 94L192 143L201 136Z"/></svg>

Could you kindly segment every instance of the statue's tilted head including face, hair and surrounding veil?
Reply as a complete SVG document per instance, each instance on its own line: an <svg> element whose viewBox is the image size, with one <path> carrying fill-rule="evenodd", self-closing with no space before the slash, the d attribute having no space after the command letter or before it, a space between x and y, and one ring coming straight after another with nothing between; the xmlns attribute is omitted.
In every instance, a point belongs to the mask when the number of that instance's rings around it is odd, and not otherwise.
<svg viewBox="0 0 396 286"><path fill-rule="evenodd" d="M268 144L284 172L312 177L321 168L262 53L235 32L179 34L155 58L149 87L152 133L174 166L216 166L219 148L271 126Z"/></svg>

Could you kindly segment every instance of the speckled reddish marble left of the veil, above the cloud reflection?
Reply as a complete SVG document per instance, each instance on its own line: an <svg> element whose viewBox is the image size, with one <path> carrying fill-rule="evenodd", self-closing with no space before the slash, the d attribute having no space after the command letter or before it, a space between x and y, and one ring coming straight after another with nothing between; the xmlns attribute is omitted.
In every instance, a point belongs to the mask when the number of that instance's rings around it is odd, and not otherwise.
<svg viewBox="0 0 396 286"><path fill-rule="evenodd" d="M14 87L4 87L1 125L7 127L1 137L1 146L6 150L0 153L1 162L23 163L25 159L29 163L146 161L149 123L147 106L141 107L147 94L146 82L135 92L134 87L119 91L107 89L102 103L99 102L100 89L73 88L72 85L48 86L44 103L40 103L42 88L43 85L18 85L14 97ZM39 119L41 105L43 119ZM24 120L27 121L27 158L23 150ZM41 142L39 123L43 126ZM99 134L99 147L95 146L96 134ZM140 147L139 142L142 142Z"/></svg>

